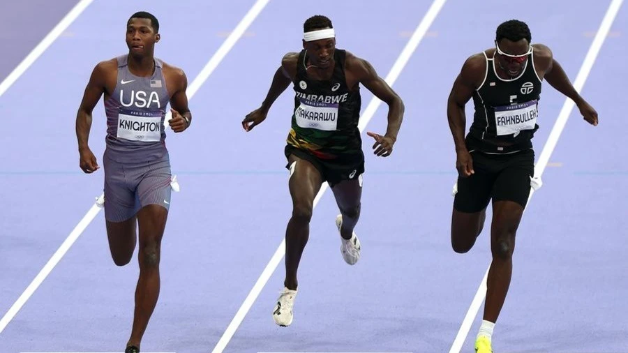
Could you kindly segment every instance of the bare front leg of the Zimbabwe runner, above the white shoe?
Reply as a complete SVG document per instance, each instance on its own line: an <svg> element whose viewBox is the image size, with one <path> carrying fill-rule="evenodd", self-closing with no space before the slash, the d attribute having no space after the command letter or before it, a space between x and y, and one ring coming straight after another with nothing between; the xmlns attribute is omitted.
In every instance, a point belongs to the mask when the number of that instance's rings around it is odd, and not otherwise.
<svg viewBox="0 0 628 353"><path fill-rule="evenodd" d="M294 154L289 156L288 163L292 217L285 231L284 285L289 290L297 290L297 269L310 235L314 198L322 185L322 176L312 163Z"/></svg>

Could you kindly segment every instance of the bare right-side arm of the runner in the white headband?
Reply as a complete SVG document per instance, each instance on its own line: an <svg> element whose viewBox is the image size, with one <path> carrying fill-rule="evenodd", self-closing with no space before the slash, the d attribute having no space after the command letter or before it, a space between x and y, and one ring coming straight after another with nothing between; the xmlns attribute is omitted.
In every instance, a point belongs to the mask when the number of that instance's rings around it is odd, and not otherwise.
<svg viewBox="0 0 628 353"><path fill-rule="evenodd" d="M377 156L389 156L392 153L393 145L397 141L397 134L403 121L405 107L403 100L391 87L377 75L371 63L360 59L347 52L345 62L345 75L347 75L347 85L352 89L356 84L364 84L364 87L371 91L375 97L380 98L388 105L388 127L385 135L368 132L367 135L375 139L373 149Z"/></svg>

